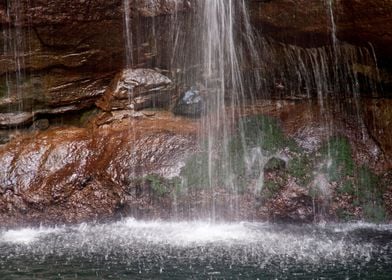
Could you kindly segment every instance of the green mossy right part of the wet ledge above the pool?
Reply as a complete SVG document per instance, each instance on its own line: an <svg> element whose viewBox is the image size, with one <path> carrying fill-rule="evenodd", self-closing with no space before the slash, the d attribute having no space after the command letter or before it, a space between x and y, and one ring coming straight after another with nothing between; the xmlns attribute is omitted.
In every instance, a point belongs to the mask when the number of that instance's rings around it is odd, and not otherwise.
<svg viewBox="0 0 392 280"><path fill-rule="evenodd" d="M257 115L238 121L228 147L226 154L221 146L208 152L202 145L185 160L179 176L148 174L131 188L144 186L152 199L186 201L191 208L217 203L220 198L209 196L214 188L241 201L252 196L246 203L253 205L246 207L276 222L383 223L391 218L386 201L391 172L376 174L357 164L345 136L331 136L307 152L285 136L277 118Z"/></svg>

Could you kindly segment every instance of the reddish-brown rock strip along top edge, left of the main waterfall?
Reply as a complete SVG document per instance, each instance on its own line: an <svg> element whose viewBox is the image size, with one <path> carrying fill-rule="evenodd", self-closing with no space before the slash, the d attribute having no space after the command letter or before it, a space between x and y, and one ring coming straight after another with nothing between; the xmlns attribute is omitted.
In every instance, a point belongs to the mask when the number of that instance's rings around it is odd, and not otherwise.
<svg viewBox="0 0 392 280"><path fill-rule="evenodd" d="M189 9L191 0L136 0L130 1L130 8L141 16L154 17L173 14ZM9 13L5 13L8 6ZM122 0L95 0L94 2L71 0L19 0L15 4L0 3L0 23L12 22L19 14L20 24L64 24L75 22L99 22L121 19Z"/></svg>

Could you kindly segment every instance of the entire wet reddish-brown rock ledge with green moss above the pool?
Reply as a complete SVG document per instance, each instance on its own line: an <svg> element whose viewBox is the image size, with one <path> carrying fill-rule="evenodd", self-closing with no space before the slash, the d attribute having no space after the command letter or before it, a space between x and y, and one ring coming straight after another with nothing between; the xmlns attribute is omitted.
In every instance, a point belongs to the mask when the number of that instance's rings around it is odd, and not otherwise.
<svg viewBox="0 0 392 280"><path fill-rule="evenodd" d="M313 103L281 102L245 108L213 147L197 140L199 119L164 110L49 119L0 146L0 222L390 222L392 172L376 146L357 141L356 126L323 123Z"/></svg>

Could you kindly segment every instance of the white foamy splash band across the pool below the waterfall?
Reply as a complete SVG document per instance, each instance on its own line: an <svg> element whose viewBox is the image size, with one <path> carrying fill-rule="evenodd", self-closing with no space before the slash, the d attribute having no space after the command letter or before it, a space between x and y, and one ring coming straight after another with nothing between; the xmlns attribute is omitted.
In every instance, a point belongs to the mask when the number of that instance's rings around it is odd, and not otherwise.
<svg viewBox="0 0 392 280"><path fill-rule="evenodd" d="M205 249L231 252L232 246L236 246L233 254L241 254L242 250L243 253L251 252L252 256L291 257L318 263L323 259L365 258L378 250L378 245L371 241L357 243L346 238L350 231L361 228L392 230L390 225L363 223L276 226L250 222L168 222L127 218L107 224L84 223L60 228L8 230L0 233L0 243L9 243L9 246L33 244L29 250L43 255L53 252L108 255L113 251L130 256L146 252L165 255L167 248L189 248L192 251L204 248L199 252L202 256Z"/></svg>

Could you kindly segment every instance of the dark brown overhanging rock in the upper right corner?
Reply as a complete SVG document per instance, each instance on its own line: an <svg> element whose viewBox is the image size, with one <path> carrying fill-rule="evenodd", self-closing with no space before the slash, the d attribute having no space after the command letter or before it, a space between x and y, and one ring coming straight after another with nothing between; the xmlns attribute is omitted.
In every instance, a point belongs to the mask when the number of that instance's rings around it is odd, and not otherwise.
<svg viewBox="0 0 392 280"><path fill-rule="evenodd" d="M274 82L287 92L298 88L305 92L314 87L312 81L317 81L320 75L319 65L335 64L336 69L341 68L340 74L333 74L335 77L330 79L333 70L324 71L321 75L327 79L323 78L323 82L330 81L343 89L347 84L358 84L362 95L374 96L377 92L377 95L391 97L390 1L249 0L249 7L255 30L267 41L258 42L261 56L268 65L261 74L268 76L267 84L268 80L276 80ZM295 84L297 77L300 81ZM356 77L356 81L340 81L349 80L348 77ZM273 86L269 88L274 91ZM282 91L275 90L274 94L282 94ZM331 91L340 93L342 90L333 88Z"/></svg>

